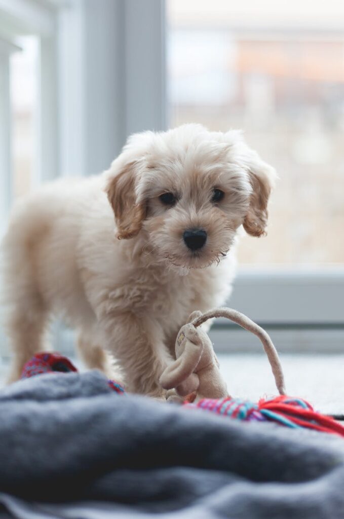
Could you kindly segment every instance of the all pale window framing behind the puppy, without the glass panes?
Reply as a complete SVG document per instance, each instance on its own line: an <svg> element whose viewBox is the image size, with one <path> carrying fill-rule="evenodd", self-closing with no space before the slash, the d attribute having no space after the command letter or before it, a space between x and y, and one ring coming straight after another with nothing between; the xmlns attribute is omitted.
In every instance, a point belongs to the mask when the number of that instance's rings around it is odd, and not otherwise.
<svg viewBox="0 0 344 519"><path fill-rule="evenodd" d="M127 135L169 125L164 0L0 0L0 20L4 13L0 36L8 49L16 35L40 37L36 183L101 171ZM0 102L6 110L7 100ZM7 117L0 135L9 135ZM0 196L7 214L11 170L4 149ZM267 266L239 267L228 305L272 330L278 346L343 351L343 301L344 267ZM212 336L220 350L256 348L228 323L218 323Z"/></svg>

